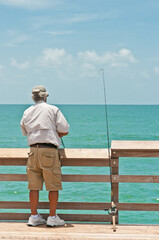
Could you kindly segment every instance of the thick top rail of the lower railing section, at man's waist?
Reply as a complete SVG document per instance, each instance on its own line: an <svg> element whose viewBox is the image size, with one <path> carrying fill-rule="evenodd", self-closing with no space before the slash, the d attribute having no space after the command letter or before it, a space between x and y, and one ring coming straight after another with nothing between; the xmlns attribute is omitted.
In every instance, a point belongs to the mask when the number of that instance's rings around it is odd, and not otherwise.
<svg viewBox="0 0 159 240"><path fill-rule="evenodd" d="M0 148L0 165L25 166L29 149ZM107 149L59 149L63 166L109 166Z"/></svg>

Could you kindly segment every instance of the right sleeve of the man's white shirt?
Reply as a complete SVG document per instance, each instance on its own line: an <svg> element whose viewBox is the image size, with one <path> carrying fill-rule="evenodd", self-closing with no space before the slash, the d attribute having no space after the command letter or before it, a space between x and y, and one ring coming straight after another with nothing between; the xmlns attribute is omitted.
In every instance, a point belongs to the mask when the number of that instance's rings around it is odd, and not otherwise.
<svg viewBox="0 0 159 240"><path fill-rule="evenodd" d="M69 131L69 124L59 109L56 113L56 128L60 133L67 133Z"/></svg>

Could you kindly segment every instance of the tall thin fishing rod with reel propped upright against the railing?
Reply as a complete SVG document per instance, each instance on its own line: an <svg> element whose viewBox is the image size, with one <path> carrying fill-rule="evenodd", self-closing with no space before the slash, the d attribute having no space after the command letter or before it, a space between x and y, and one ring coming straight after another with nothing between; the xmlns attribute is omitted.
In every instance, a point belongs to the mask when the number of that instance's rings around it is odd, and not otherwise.
<svg viewBox="0 0 159 240"><path fill-rule="evenodd" d="M111 185L111 208L110 209L104 209L105 211L108 211L108 214L112 216L112 222L113 222L113 231L116 231L116 223L115 223L115 217L117 213L117 208L114 203L114 189L113 189L113 183L112 183L112 167L111 167L111 152L110 152L110 142L109 142L109 124L108 124L108 109L107 109L107 96L106 96L106 87L105 87L105 77L104 77L104 69L101 68L99 72L102 72L102 80L103 80L103 90L104 90L104 106L105 106L105 121L106 121L106 132L107 132L107 144L108 144L108 159L109 159L109 169L110 169L110 185Z"/></svg>

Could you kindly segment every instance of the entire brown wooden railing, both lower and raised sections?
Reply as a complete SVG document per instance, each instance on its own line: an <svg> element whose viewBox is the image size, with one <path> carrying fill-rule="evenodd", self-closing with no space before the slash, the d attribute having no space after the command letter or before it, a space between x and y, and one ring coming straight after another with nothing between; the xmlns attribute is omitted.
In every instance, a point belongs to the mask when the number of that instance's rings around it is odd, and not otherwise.
<svg viewBox="0 0 159 240"><path fill-rule="evenodd" d="M25 166L29 149L0 149L1 166ZM159 211L157 203L119 202L119 183L159 183L158 175L119 175L119 160L126 157L159 157L159 141L112 141L111 160L107 149L60 149L62 165L109 167L112 169L113 199L119 211ZM0 181L27 181L25 174L0 174ZM109 175L62 175L63 182L110 182ZM29 202L0 201L0 220L27 220L29 213L11 213L9 209L29 209ZM104 210L111 207L109 202L59 202L61 210ZM49 209L48 202L40 202L39 209ZM111 215L105 214L59 214L66 221L112 222ZM44 214L46 217L46 214Z"/></svg>

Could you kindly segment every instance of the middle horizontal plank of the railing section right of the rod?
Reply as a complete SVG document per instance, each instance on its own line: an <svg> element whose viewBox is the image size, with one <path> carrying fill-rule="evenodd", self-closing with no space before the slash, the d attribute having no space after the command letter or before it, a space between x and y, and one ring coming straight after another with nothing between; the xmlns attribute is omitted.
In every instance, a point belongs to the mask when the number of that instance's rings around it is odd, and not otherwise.
<svg viewBox="0 0 159 240"><path fill-rule="evenodd" d="M113 175L113 182L120 183L159 183L159 176L157 175Z"/></svg>

